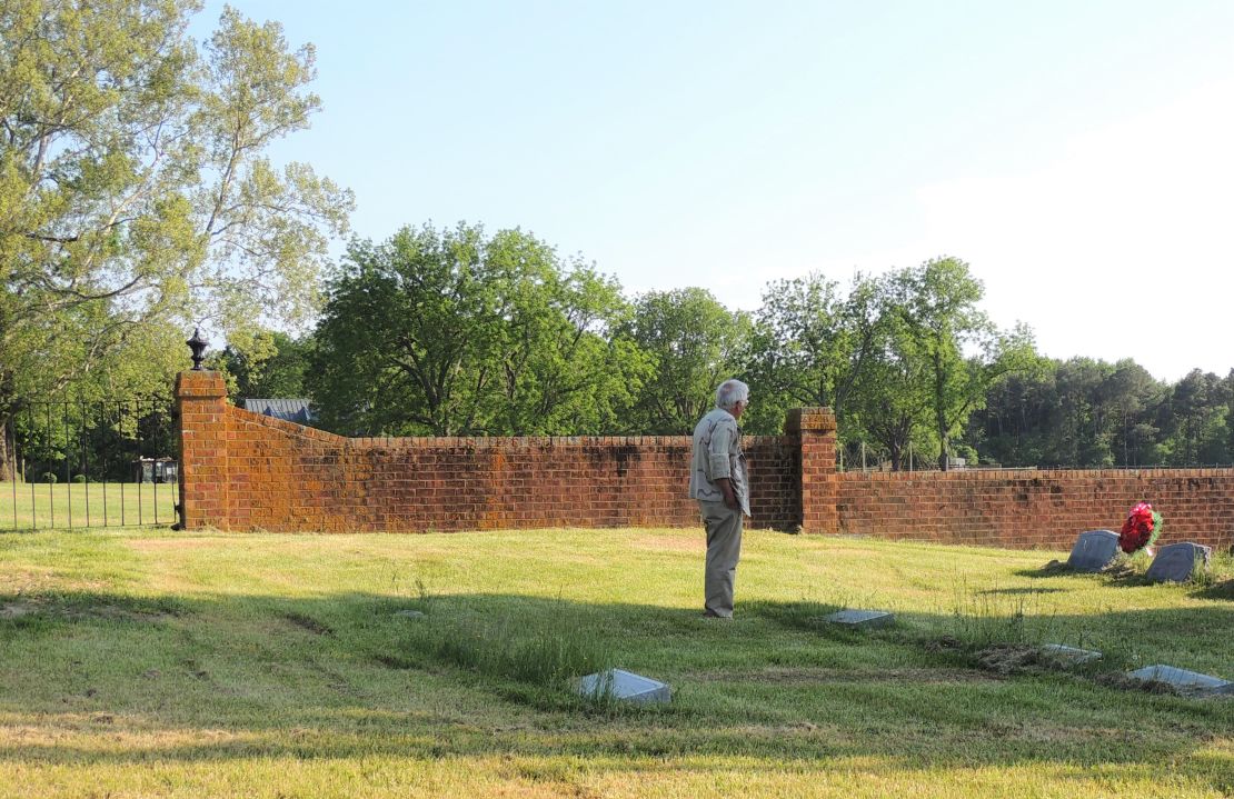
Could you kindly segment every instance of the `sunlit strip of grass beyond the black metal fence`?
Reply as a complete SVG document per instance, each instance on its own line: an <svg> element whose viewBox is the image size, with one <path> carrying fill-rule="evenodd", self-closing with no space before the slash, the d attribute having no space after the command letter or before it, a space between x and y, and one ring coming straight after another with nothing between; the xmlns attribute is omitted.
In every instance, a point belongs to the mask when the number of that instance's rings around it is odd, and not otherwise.
<svg viewBox="0 0 1234 799"><path fill-rule="evenodd" d="M173 524L175 483L0 482L0 530Z"/></svg>

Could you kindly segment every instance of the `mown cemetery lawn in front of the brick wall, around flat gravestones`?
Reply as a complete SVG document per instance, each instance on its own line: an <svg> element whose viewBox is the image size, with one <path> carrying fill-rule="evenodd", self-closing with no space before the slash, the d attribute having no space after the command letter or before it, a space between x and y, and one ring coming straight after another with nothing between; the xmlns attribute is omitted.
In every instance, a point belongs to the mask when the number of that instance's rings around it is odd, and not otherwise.
<svg viewBox="0 0 1234 799"><path fill-rule="evenodd" d="M694 530L0 534L0 797L1234 792L1234 700L1107 678L1234 678L1228 557L1149 586L753 531L726 623L700 618L702 555ZM898 623L818 621L840 607ZM1106 658L991 649L1040 642ZM673 704L574 697L597 663Z"/></svg>

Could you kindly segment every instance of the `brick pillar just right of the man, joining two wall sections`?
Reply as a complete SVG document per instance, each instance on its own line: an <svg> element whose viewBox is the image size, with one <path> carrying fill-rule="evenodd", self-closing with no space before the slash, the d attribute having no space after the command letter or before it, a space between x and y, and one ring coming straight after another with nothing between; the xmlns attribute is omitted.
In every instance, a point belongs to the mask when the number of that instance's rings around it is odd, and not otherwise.
<svg viewBox="0 0 1234 799"><path fill-rule="evenodd" d="M785 433L801 450L801 530L838 533L839 481L835 475L835 416L830 408L793 408Z"/></svg>

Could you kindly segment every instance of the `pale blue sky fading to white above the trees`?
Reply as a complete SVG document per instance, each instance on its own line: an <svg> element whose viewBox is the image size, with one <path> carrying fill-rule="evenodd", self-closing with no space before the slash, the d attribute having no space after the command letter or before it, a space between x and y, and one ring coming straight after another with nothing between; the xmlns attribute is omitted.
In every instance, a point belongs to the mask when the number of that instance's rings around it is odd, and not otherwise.
<svg viewBox="0 0 1234 799"><path fill-rule="evenodd" d="M1228 0L232 5L316 46L276 155L362 237L517 226L749 309L955 255L1048 355L1234 367Z"/></svg>

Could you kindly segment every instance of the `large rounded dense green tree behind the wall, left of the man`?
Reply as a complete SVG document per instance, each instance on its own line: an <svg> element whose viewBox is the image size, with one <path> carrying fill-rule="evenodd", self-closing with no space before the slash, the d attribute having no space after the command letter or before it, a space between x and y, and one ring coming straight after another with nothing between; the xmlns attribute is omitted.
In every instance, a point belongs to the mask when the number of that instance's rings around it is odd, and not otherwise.
<svg viewBox="0 0 1234 799"><path fill-rule="evenodd" d="M342 432L610 432L648 370L617 284L521 231L357 240L328 293L311 388Z"/></svg>

